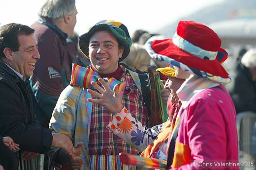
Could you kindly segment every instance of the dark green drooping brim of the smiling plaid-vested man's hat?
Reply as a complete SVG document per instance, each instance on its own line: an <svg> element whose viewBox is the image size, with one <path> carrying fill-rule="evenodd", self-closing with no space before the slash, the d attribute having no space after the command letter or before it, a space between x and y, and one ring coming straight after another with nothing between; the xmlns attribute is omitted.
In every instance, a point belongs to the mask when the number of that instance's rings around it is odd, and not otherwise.
<svg viewBox="0 0 256 170"><path fill-rule="evenodd" d="M90 42L90 37L92 34L94 34L97 30L101 30L101 29L105 29L105 30L109 30L111 33L114 34L114 36L117 38L117 40L119 41L119 43L122 43L122 46L124 47L124 52L122 54L122 57L119 59L119 62L123 61L129 54L130 52L130 48L128 46L128 44L126 42L124 42L121 38L118 37L116 31L111 28L111 26L107 25L107 24L98 24L93 26L87 33L82 34L79 37L79 48L81 49L81 51L85 54L85 56L88 57L89 55L89 42ZM89 57L88 57L89 58Z"/></svg>

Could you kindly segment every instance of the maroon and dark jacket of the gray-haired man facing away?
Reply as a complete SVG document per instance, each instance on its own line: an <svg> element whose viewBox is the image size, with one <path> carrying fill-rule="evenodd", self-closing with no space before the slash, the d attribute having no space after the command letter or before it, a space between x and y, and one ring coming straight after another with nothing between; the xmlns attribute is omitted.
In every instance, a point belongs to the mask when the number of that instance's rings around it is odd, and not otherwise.
<svg viewBox="0 0 256 170"><path fill-rule="evenodd" d="M42 17L31 25L41 58L36 62L30 85L35 97L35 114L43 127L48 127L57 100L69 85L72 62L77 63L74 44L67 34Z"/></svg>

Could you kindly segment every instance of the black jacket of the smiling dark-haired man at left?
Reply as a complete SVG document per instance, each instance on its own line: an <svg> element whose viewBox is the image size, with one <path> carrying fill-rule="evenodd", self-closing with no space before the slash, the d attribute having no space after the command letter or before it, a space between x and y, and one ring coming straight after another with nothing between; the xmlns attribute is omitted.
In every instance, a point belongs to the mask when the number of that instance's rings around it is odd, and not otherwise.
<svg viewBox="0 0 256 170"><path fill-rule="evenodd" d="M52 133L34 114L28 83L0 61L0 135L9 136L20 149L47 153Z"/></svg>

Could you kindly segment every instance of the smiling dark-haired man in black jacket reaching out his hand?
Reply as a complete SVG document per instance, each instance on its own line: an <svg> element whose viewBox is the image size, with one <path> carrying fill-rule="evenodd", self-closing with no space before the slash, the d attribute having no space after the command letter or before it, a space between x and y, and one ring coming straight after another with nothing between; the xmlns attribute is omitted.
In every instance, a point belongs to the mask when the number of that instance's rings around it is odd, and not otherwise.
<svg viewBox="0 0 256 170"><path fill-rule="evenodd" d="M35 118L28 83L40 58L34 29L22 24L0 27L0 135L9 136L23 150L25 159L45 154L51 146L69 154L72 142L64 134L52 134ZM36 153L33 153L36 152Z"/></svg>

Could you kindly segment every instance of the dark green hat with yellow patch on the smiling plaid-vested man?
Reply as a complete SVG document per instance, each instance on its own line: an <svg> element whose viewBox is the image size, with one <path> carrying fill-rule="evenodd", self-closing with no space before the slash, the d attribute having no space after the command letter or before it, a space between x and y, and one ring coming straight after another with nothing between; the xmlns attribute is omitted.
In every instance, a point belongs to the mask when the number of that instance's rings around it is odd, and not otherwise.
<svg viewBox="0 0 256 170"><path fill-rule="evenodd" d="M103 20L95 24L94 26L88 29L88 32L81 35L79 37L79 47L81 51L88 56L89 55L89 41L90 37L93 33L98 30L109 30L112 34L117 38L119 43L122 43L124 47L124 52L122 58L119 59L119 62L124 60L129 52L131 46L131 39L128 32L127 27L119 22L112 21L112 20Z"/></svg>

